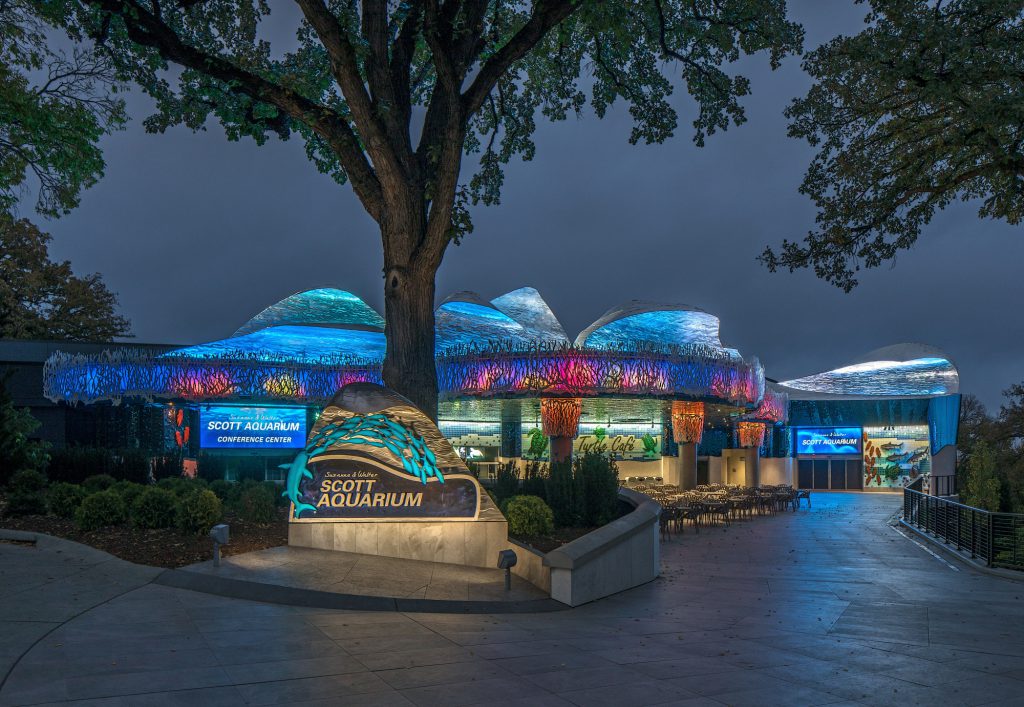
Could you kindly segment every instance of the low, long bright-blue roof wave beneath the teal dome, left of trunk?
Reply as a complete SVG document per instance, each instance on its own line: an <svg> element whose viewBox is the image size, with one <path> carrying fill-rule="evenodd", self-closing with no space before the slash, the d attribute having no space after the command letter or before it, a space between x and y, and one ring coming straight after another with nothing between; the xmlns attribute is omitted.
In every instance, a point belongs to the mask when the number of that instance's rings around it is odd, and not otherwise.
<svg viewBox="0 0 1024 707"><path fill-rule="evenodd" d="M383 332L332 327L270 327L251 334L175 348L163 357L193 359L255 359L316 363L349 357L365 361L383 361Z"/></svg>

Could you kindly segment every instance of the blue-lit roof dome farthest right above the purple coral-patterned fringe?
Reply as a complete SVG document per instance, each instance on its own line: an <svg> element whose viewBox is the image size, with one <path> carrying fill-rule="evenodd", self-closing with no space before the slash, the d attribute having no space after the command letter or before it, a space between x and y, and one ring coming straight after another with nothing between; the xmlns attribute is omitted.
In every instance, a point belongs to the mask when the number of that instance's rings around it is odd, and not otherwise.
<svg viewBox="0 0 1024 707"><path fill-rule="evenodd" d="M609 310L584 329L577 345L616 348L636 342L662 346L702 344L721 348L718 318L707 311L675 304L634 300Z"/></svg>

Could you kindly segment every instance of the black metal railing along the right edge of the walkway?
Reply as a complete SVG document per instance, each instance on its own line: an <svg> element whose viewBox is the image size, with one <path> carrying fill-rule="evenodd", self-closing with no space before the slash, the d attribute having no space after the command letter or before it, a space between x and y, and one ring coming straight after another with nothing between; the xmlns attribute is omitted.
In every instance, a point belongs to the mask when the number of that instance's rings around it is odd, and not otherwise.
<svg viewBox="0 0 1024 707"><path fill-rule="evenodd" d="M903 521L989 567L1024 570L1024 513L994 513L904 489Z"/></svg>

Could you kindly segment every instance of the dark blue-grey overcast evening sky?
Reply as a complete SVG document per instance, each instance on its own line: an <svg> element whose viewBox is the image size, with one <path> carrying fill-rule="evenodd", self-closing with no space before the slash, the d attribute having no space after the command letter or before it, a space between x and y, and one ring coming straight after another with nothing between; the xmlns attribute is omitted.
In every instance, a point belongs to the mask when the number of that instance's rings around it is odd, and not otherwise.
<svg viewBox="0 0 1024 707"><path fill-rule="evenodd" d="M791 7L809 49L857 32L864 9L851 0ZM1024 380L1019 228L957 205L892 267L863 273L851 294L812 273L768 273L755 259L764 246L813 225L813 205L797 192L812 152L786 137L782 116L809 81L797 57L777 72L764 56L732 69L753 83L749 121L702 149L690 139L695 109L678 79L681 125L662 145L630 145L621 105L603 121L588 113L541 123L537 158L508 167L502 204L477 208L475 233L449 250L438 299L530 285L570 337L629 299L685 302L717 315L723 342L760 357L779 380L921 341L953 360L962 391L996 408L1000 391ZM215 124L150 135L148 99L129 103L133 123L103 141L105 177L79 209L42 225L54 257L103 275L138 341L222 338L313 287L349 290L383 311L376 224L347 186L306 161L299 139L228 142Z"/></svg>

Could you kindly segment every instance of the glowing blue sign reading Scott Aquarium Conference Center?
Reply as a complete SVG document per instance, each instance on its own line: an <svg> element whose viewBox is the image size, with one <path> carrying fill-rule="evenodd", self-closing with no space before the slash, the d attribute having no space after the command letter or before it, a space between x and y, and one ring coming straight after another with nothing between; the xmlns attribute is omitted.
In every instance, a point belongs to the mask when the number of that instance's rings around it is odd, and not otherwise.
<svg viewBox="0 0 1024 707"><path fill-rule="evenodd" d="M203 449L299 449L306 446L304 408L211 406L199 414Z"/></svg>

